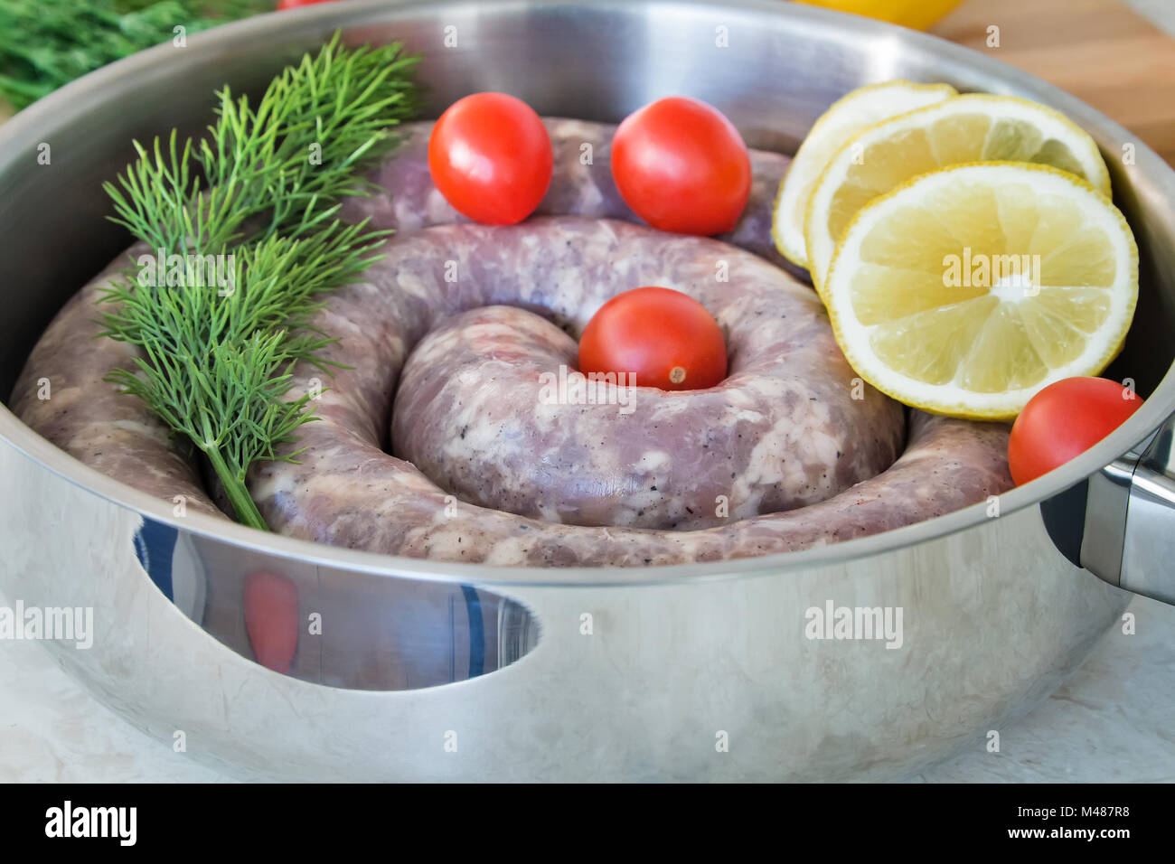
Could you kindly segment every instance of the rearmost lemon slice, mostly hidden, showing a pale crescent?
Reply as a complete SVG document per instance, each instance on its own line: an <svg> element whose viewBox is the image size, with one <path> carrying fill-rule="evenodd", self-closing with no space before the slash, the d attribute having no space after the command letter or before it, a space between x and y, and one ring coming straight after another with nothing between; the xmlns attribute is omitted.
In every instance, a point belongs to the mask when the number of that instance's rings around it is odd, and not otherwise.
<svg viewBox="0 0 1175 864"><path fill-rule="evenodd" d="M881 120L925 108L953 95L954 87L945 83L887 81L860 87L833 102L808 130L779 185L771 230L779 253L788 261L807 267L804 215L808 196L832 154L848 139Z"/></svg>

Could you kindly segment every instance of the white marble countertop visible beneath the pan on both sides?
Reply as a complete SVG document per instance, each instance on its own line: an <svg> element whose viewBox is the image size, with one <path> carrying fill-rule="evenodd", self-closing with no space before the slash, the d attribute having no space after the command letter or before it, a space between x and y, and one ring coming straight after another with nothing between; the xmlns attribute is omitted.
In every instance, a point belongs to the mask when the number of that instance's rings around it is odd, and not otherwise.
<svg viewBox="0 0 1175 864"><path fill-rule="evenodd" d="M2 601L0 601L2 602ZM980 748L911 778L1175 782L1175 607L1136 598L1069 682ZM239 779L147 737L62 671L40 643L0 641L0 782Z"/></svg>

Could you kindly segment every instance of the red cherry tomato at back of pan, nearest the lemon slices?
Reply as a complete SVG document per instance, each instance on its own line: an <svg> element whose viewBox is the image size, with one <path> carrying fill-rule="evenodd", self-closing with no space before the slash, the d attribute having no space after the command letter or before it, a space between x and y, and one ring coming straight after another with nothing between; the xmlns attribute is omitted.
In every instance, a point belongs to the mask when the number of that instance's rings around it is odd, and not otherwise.
<svg viewBox="0 0 1175 864"><path fill-rule="evenodd" d="M653 228L721 234L751 195L751 158L717 108L670 96L630 114L612 139L612 179Z"/></svg>

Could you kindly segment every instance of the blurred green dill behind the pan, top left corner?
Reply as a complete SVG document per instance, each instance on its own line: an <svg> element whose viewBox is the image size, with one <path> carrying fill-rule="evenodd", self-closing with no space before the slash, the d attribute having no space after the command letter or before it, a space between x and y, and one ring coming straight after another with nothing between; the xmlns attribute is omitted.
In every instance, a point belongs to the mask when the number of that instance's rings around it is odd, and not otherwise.
<svg viewBox="0 0 1175 864"><path fill-rule="evenodd" d="M0 0L0 96L16 109L115 60L273 0Z"/></svg>

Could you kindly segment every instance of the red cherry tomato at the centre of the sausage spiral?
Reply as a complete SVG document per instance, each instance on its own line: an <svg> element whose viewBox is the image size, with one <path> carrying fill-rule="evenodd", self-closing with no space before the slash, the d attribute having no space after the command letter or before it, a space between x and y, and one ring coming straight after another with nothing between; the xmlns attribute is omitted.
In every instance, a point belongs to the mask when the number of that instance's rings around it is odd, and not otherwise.
<svg viewBox="0 0 1175 864"><path fill-rule="evenodd" d="M726 343L718 322L693 297L670 288L633 288L588 322L579 371L633 373L640 387L700 390L726 377Z"/></svg>

